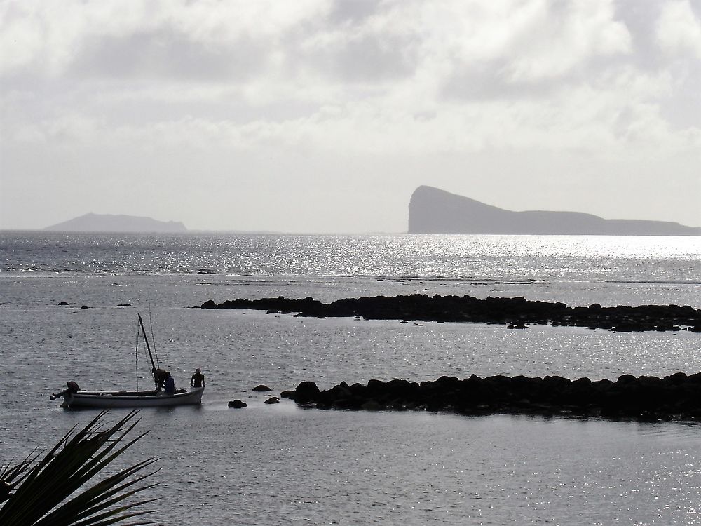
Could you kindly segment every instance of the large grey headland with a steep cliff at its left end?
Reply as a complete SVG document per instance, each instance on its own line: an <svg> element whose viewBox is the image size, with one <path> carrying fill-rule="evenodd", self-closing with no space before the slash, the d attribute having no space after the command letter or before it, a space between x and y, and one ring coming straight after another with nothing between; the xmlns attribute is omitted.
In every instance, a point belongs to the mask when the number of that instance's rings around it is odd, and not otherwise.
<svg viewBox="0 0 701 526"><path fill-rule="evenodd" d="M409 234L701 236L701 228L663 221L605 220L578 212L514 212L421 186L409 201Z"/></svg>

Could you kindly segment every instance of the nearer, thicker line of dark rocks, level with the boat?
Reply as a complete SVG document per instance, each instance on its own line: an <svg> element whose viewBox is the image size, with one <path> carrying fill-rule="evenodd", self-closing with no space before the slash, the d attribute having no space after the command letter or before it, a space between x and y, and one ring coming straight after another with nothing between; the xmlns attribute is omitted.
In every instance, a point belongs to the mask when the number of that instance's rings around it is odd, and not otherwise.
<svg viewBox="0 0 701 526"><path fill-rule="evenodd" d="M701 373L664 378L622 375L615 382L559 376L443 376L434 382L346 382L322 391L301 382L281 396L320 409L428 410L460 414L526 413L641 420L701 419Z"/></svg>

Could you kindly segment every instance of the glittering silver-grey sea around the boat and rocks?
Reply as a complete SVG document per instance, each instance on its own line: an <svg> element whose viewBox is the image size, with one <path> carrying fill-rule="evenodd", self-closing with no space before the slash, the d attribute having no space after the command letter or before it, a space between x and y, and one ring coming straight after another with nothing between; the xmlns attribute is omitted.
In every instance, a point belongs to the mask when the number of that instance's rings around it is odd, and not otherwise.
<svg viewBox="0 0 701 526"><path fill-rule="evenodd" d="M142 411L139 429L151 431L128 455L161 458L163 524L699 520L698 424L302 410L250 391L265 383L277 394L302 380L697 372L699 335L191 307L421 292L698 309L701 238L4 232L0 255L0 464L88 421L92 412L48 400L68 379L149 383L134 352L141 312L177 382L195 367L207 378L201 407ZM249 406L230 410L234 398Z"/></svg>

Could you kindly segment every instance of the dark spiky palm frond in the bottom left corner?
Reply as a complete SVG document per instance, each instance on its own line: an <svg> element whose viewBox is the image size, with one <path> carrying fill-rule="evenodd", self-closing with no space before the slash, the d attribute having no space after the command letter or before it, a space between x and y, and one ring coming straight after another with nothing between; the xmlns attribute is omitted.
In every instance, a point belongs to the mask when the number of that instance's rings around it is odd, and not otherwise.
<svg viewBox="0 0 701 526"><path fill-rule="evenodd" d="M87 426L75 427L45 455L32 452L13 466L0 469L0 524L4 526L107 526L154 513L139 506L157 499L128 501L158 483L139 485L156 471L142 472L158 459L123 468L89 483L114 459L147 433L125 442L139 419L136 411L104 426L106 411ZM133 421L133 422L132 422ZM130 522L131 526L153 522Z"/></svg>

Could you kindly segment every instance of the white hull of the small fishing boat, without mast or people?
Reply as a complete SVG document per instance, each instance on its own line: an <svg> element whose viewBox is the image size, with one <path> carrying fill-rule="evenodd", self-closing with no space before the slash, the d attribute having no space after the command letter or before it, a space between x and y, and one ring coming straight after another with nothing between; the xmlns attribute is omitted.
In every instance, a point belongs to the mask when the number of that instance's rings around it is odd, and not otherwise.
<svg viewBox="0 0 701 526"><path fill-rule="evenodd" d="M202 403L204 387L194 387L183 393L166 394L163 391L78 391L64 393L61 407L173 407L177 405L198 405Z"/></svg>

